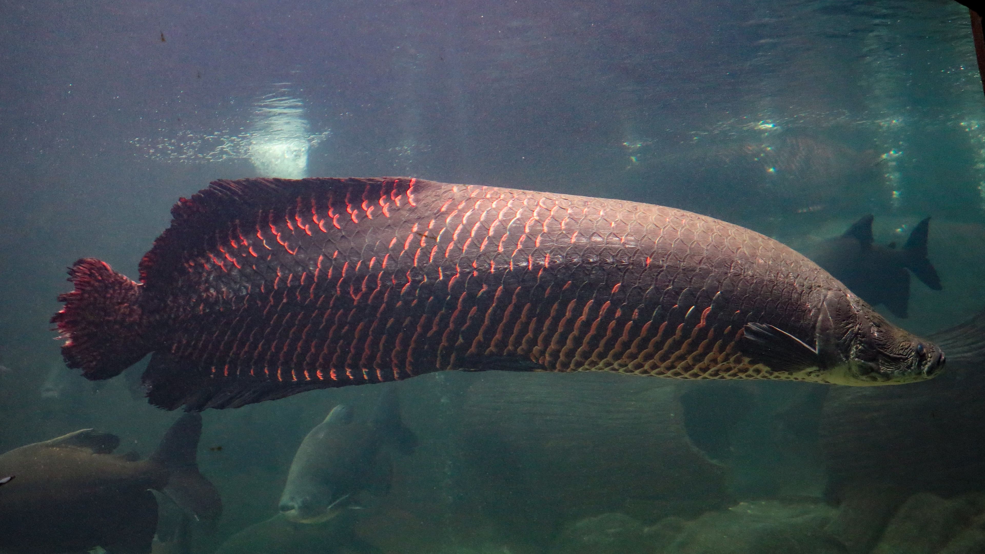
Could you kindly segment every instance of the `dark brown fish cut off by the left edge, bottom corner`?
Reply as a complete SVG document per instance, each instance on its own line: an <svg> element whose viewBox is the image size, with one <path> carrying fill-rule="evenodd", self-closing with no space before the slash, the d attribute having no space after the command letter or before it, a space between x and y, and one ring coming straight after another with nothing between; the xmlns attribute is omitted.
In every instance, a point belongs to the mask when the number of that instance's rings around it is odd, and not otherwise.
<svg viewBox="0 0 985 554"><path fill-rule="evenodd" d="M0 455L0 474L18 476L0 494L0 551L146 554L158 523L149 489L198 519L218 519L219 493L195 463L201 430L200 415L181 416L141 461L112 454L119 438L92 429Z"/></svg>

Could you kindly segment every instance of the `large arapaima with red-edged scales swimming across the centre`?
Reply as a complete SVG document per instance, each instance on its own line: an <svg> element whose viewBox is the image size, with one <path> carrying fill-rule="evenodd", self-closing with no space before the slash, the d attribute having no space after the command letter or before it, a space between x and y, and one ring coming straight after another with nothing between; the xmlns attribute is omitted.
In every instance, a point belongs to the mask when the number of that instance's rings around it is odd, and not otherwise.
<svg viewBox="0 0 985 554"><path fill-rule="evenodd" d="M780 242L621 200L415 178L218 180L141 282L97 259L52 318L93 380L235 407L439 370L889 384L944 354Z"/></svg>

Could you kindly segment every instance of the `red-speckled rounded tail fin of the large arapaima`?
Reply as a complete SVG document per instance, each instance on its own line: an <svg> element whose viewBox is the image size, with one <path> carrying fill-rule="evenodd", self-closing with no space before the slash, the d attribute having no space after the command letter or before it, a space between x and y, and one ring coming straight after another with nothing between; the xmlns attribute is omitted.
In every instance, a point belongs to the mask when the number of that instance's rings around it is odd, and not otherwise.
<svg viewBox="0 0 985 554"><path fill-rule="evenodd" d="M94 258L68 270L75 290L58 296L65 303L51 317L66 338L62 357L87 379L109 379L140 361L151 347L143 337L141 286Z"/></svg>

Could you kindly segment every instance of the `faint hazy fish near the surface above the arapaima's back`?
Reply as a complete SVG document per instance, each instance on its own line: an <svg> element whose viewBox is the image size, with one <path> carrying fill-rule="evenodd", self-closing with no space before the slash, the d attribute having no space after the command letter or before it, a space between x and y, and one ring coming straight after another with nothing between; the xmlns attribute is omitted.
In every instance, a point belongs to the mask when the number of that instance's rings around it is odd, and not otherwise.
<svg viewBox="0 0 985 554"><path fill-rule="evenodd" d="M884 180L886 160L834 138L790 131L641 146L627 175L668 204L729 221L850 209Z"/></svg>

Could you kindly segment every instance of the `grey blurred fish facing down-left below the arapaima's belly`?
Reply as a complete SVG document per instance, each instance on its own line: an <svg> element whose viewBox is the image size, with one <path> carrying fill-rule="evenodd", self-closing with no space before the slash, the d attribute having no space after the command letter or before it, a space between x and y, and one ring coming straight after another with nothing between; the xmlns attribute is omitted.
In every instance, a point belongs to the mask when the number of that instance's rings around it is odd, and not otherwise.
<svg viewBox="0 0 985 554"><path fill-rule="evenodd" d="M281 495L281 512L292 521L317 523L356 507L361 491L389 492L389 451L411 454L417 443L414 432L400 420L393 387L383 390L368 421L354 421L351 406L335 406L297 449Z"/></svg>

